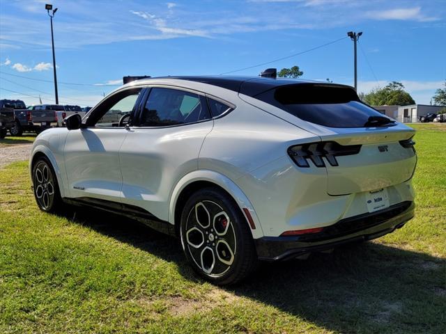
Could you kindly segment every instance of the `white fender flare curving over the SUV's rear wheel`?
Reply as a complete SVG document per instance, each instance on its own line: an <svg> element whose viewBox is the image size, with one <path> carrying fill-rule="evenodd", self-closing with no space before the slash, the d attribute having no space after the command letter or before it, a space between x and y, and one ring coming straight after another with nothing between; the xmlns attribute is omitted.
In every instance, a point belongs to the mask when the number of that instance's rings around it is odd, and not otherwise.
<svg viewBox="0 0 446 334"><path fill-rule="evenodd" d="M259 217L257 217L256 212L254 211L254 207L251 202L249 202L247 196L243 191L231 180L229 177L222 175L221 173L217 173L214 170L194 170L191 173L183 176L180 181L176 184L174 191L172 191L170 200L169 200L169 223L174 224L175 218L175 207L176 202L178 200L178 196L180 196L181 191L185 189L185 187L193 182L197 181L207 181L217 186L221 186L222 189L227 191L234 200L236 200L238 207L240 207L240 211L243 212L245 216L246 223L248 224L248 218L243 211L244 208L249 210L249 214L252 216L252 220L254 221L255 229L250 229L252 232L252 237L254 239L258 239L263 237L263 230L261 228Z"/></svg>

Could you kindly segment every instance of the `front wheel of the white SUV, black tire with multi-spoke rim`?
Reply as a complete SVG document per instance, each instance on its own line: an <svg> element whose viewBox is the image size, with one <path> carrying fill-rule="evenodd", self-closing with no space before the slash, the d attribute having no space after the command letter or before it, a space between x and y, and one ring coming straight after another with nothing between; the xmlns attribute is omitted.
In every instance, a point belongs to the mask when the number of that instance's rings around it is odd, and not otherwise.
<svg viewBox="0 0 446 334"><path fill-rule="evenodd" d="M39 157L33 165L33 192L39 209L59 212L62 208L61 193L56 173L47 157Z"/></svg>

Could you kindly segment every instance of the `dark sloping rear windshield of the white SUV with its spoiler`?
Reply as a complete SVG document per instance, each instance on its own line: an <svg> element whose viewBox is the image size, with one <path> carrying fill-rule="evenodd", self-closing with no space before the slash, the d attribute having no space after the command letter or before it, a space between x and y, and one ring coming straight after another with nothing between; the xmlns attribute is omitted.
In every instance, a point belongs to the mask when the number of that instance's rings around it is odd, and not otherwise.
<svg viewBox="0 0 446 334"><path fill-rule="evenodd" d="M387 122L385 116L360 102L353 88L328 84L295 84L280 86L256 95L291 113L291 115L325 127L367 127L377 118Z"/></svg>

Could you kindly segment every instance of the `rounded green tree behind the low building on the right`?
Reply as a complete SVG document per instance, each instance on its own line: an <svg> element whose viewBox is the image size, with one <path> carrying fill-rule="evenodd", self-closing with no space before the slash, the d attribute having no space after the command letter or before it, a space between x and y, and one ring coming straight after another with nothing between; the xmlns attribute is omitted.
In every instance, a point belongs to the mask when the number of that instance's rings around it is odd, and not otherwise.
<svg viewBox="0 0 446 334"><path fill-rule="evenodd" d="M370 93L364 95L364 102L371 106L396 105L405 106L415 104L409 93L404 90L401 82L392 81L383 88L375 88Z"/></svg>

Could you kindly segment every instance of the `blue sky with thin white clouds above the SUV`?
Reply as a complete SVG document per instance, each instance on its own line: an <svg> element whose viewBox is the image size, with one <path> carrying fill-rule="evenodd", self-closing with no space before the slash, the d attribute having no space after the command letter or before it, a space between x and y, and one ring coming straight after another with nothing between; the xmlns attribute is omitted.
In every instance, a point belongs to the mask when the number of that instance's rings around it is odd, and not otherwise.
<svg viewBox="0 0 446 334"><path fill-rule="evenodd" d="M41 95L43 102L54 103L48 1L0 0L1 98L37 104ZM339 40L347 31L363 31L360 92L401 81L415 102L429 104L446 78L446 0L52 4L59 8L54 40L64 104L93 105L118 87L124 75L221 74ZM353 85L353 42L344 38L233 74L256 75L266 67L293 65L300 66L305 79Z"/></svg>

